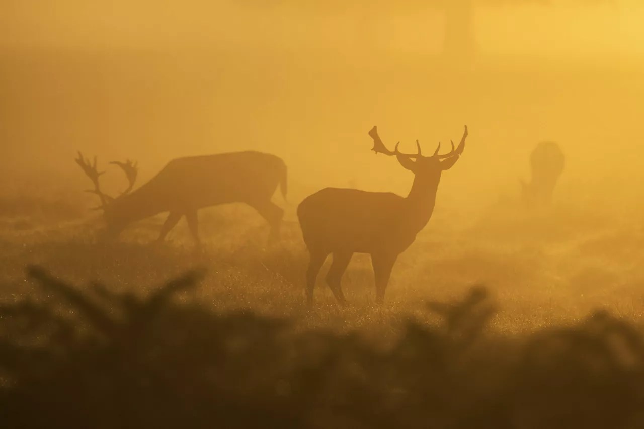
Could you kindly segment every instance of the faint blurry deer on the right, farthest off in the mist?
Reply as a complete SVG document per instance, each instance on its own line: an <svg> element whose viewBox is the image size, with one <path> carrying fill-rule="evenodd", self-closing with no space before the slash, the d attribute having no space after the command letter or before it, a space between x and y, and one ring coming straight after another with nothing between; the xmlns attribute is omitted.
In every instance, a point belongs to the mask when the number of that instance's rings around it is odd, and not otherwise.
<svg viewBox="0 0 644 429"><path fill-rule="evenodd" d="M529 184L521 180L522 198L528 207L551 203L554 187L564 172L564 153L555 142L541 142L530 154L532 178Z"/></svg>

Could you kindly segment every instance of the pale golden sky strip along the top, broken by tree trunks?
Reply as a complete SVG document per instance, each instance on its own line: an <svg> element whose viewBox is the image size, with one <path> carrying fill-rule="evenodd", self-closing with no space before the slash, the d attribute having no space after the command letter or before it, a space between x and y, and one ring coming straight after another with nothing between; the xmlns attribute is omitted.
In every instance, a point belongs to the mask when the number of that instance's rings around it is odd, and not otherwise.
<svg viewBox="0 0 644 429"><path fill-rule="evenodd" d="M560 2L562 3L562 2ZM644 53L644 6L478 7L477 38L488 52ZM368 32L393 50L440 45L439 15L430 8L373 17ZM355 36L342 14L298 15L296 10L234 8L226 1L0 0L0 44L5 46L166 46L268 43L337 46Z"/></svg>

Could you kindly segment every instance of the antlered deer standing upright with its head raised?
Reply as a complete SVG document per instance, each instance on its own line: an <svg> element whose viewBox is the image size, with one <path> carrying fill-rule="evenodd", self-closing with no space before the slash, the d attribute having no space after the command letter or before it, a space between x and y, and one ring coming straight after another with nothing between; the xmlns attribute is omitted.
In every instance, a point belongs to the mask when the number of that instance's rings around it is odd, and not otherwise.
<svg viewBox="0 0 644 429"><path fill-rule="evenodd" d="M412 190L406 197L384 192L327 187L305 198L298 206L299 224L310 254L307 270L307 301L313 302L317 274L328 254L333 262L327 283L336 300L345 305L341 279L354 253L371 255L375 274L376 301L384 301L394 263L415 240L431 218L439 186L440 173L459 160L468 137L468 127L458 148L451 142L451 152L439 155L439 147L431 157L405 155L386 149L377 128L369 132L374 139L375 153L395 155L404 168L415 175Z"/></svg>

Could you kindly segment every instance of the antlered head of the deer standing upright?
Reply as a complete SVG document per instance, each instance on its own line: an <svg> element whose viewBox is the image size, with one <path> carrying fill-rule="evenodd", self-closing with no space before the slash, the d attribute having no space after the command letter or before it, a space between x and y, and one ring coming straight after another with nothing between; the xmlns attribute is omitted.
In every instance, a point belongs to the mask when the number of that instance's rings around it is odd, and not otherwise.
<svg viewBox="0 0 644 429"><path fill-rule="evenodd" d="M465 148L465 139L468 137L468 126L465 126L465 132L463 133L463 137L460 139L458 148L455 148L454 142L451 141L450 153L439 155L439 142L438 148L436 148L436 151L430 157L424 157L422 155L421 144L418 142L418 140L416 140L418 153L414 155L408 155L405 153L400 153L398 151L398 145L400 144L400 142L396 144L396 147L395 149L393 149L393 151L388 150L384 146L383 141L378 136L378 131L375 126L371 129L371 131L369 131L369 135L374 139L374 148L372 149L372 151L374 151L375 153L384 153L384 155L389 156L395 155L401 166L412 171L414 175L439 179L441 171L448 170L453 167L454 164L456 164L456 162L459 160L460 155L463 153L463 149Z"/></svg>

